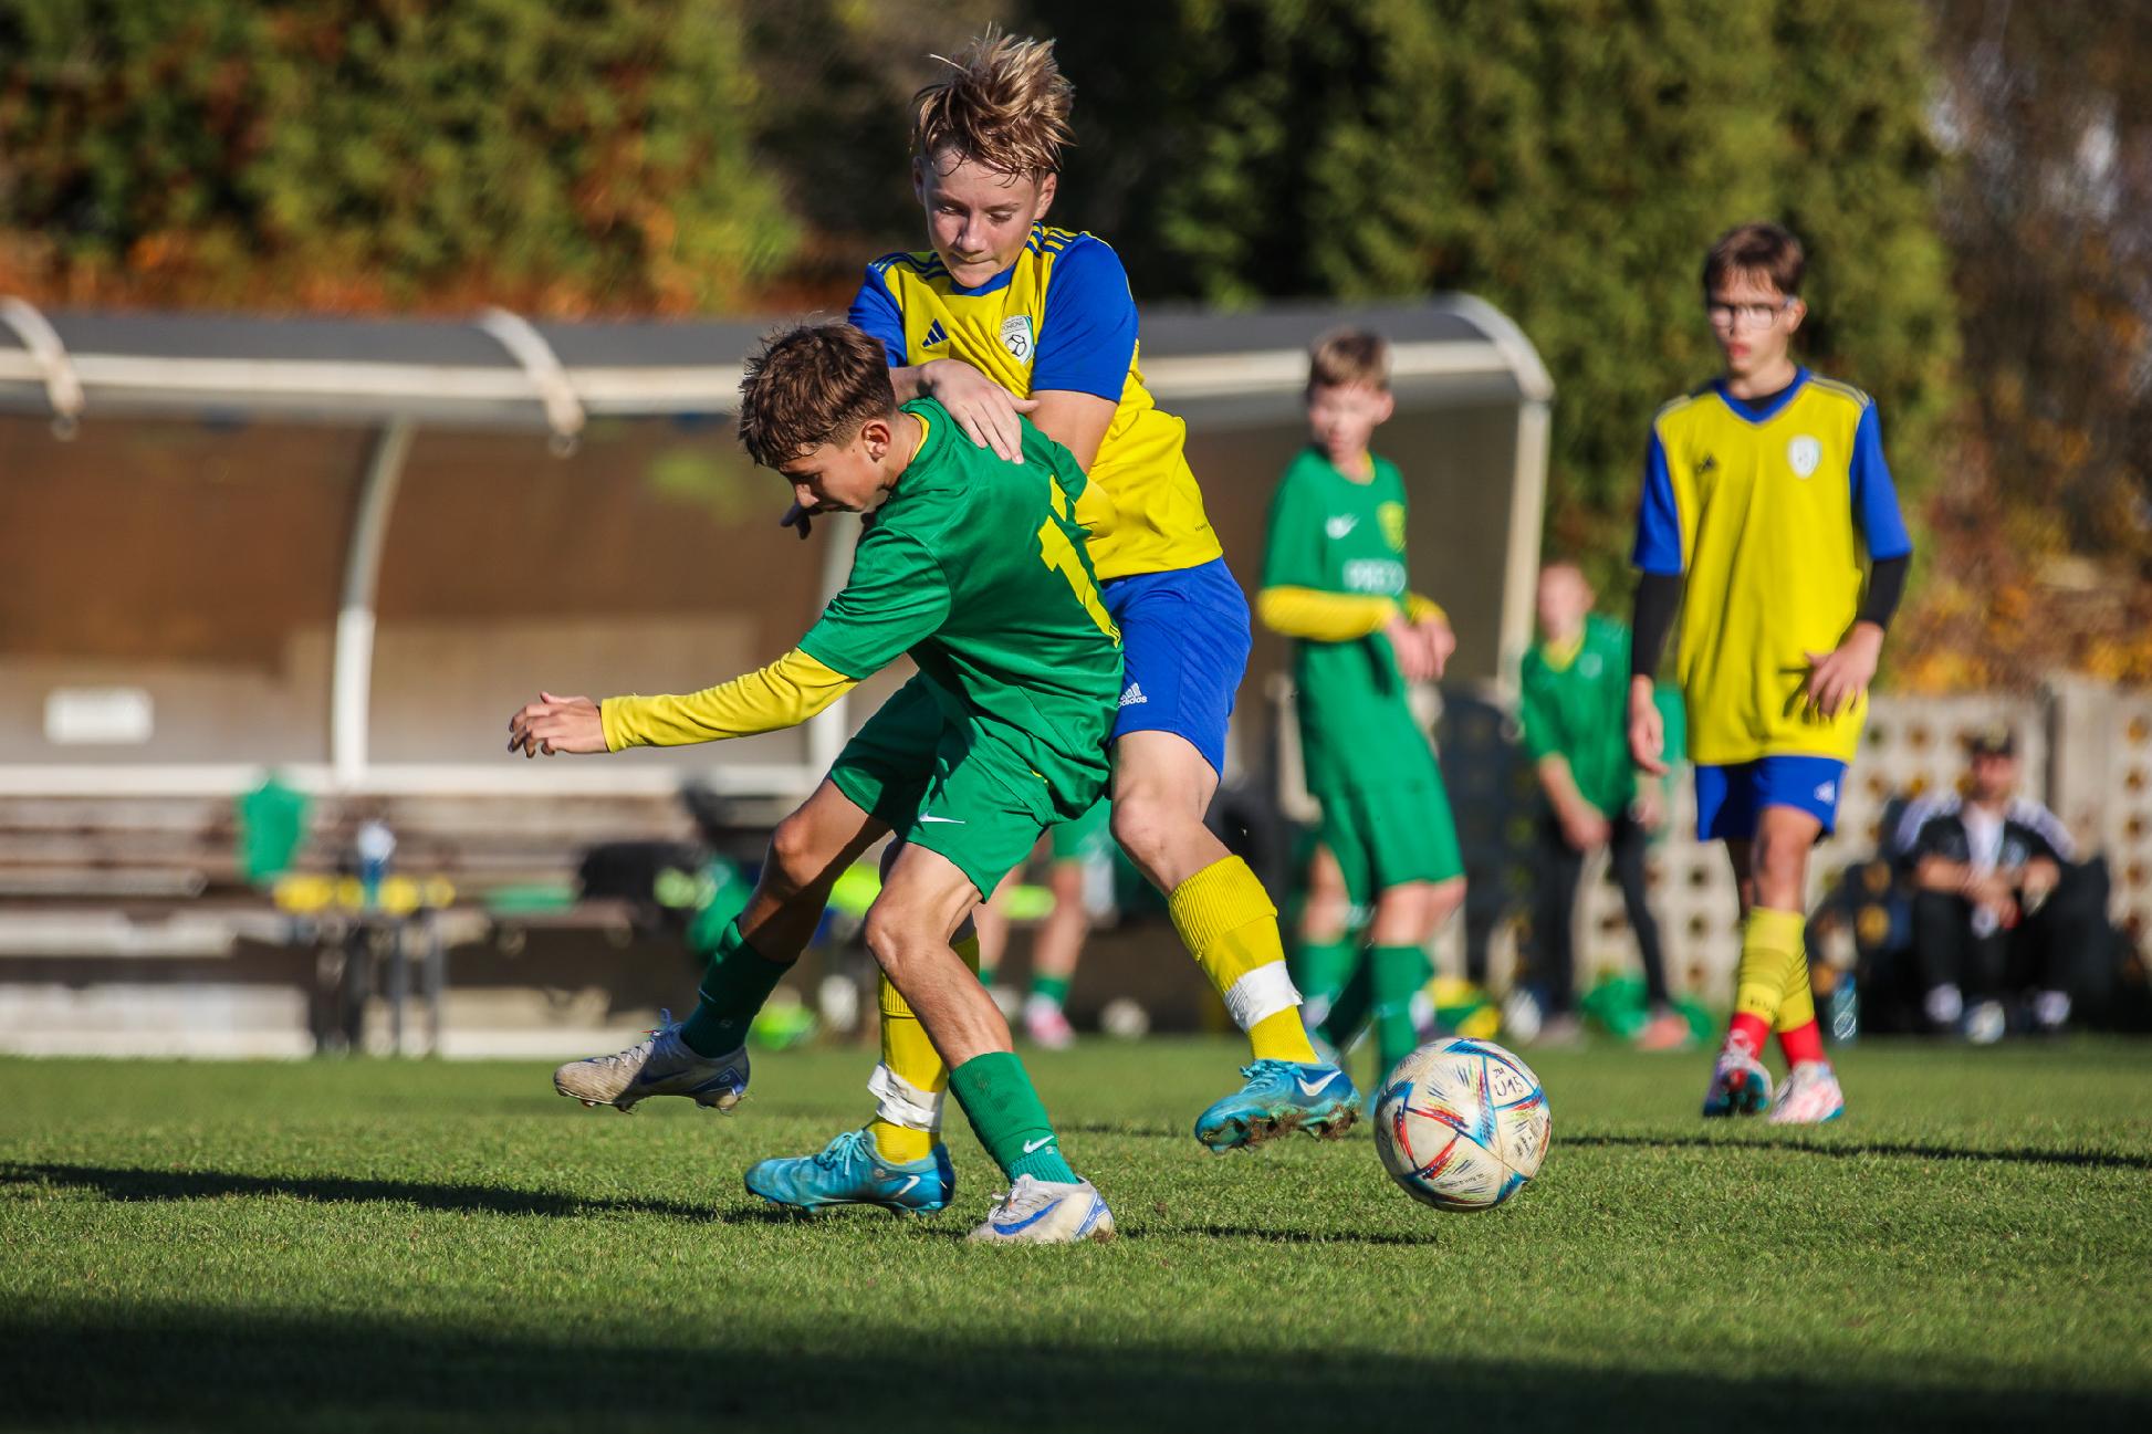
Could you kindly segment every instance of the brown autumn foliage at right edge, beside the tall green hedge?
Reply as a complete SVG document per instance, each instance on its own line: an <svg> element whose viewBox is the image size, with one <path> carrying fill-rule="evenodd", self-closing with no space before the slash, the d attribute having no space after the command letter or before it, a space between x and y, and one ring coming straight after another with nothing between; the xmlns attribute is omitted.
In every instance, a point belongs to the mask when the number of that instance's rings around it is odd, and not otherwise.
<svg viewBox="0 0 2152 1434"><path fill-rule="evenodd" d="M1935 11L1969 413L1900 672L2152 683L2152 6Z"/></svg>

